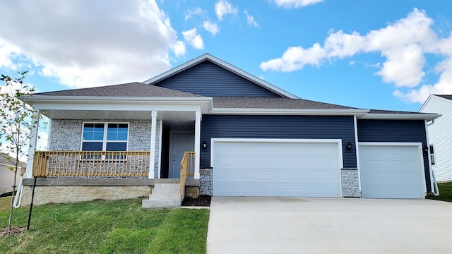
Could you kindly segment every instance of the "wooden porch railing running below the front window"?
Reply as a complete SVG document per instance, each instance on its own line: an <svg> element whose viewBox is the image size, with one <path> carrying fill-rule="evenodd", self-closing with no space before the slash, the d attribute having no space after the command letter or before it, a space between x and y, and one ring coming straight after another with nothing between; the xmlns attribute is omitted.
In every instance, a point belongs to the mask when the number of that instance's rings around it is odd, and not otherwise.
<svg viewBox="0 0 452 254"><path fill-rule="evenodd" d="M150 152L43 151L33 159L33 176L148 176Z"/></svg>

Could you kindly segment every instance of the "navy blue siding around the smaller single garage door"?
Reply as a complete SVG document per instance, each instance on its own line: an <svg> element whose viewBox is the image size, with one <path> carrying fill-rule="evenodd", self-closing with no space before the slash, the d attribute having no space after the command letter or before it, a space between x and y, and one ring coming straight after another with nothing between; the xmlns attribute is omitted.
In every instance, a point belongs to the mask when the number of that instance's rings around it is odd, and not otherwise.
<svg viewBox="0 0 452 254"><path fill-rule="evenodd" d="M358 120L358 142L413 142L427 146L422 120ZM424 154L427 192L431 192L429 158Z"/></svg>

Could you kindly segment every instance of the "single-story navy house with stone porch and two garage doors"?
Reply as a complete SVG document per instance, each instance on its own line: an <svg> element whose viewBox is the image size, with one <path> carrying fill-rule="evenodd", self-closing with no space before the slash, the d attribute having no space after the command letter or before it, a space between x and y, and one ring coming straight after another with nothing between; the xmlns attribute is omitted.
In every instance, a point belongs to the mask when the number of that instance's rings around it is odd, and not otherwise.
<svg viewBox="0 0 452 254"><path fill-rule="evenodd" d="M425 126L438 115L300 99L210 54L143 83L24 100L51 125L49 151L28 165L23 204L33 175L44 176L35 203L141 197L160 183L195 196L432 191Z"/></svg>

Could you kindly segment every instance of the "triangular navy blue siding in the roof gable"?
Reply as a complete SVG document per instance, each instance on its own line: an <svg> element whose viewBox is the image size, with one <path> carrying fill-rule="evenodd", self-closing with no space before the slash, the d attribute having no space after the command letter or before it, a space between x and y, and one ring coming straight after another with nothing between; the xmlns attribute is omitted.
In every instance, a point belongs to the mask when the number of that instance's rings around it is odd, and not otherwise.
<svg viewBox="0 0 452 254"><path fill-rule="evenodd" d="M203 61L155 85L201 96L280 97L210 61Z"/></svg>

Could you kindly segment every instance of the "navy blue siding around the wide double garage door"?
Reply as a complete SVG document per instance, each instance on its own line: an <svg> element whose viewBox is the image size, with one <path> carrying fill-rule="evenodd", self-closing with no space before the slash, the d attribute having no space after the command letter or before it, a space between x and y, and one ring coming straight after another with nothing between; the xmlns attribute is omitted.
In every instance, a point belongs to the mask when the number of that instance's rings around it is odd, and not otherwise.
<svg viewBox="0 0 452 254"><path fill-rule="evenodd" d="M210 167L210 138L342 139L343 166L357 167L353 116L217 116L201 121L201 167ZM352 143L352 151L345 145Z"/></svg>

